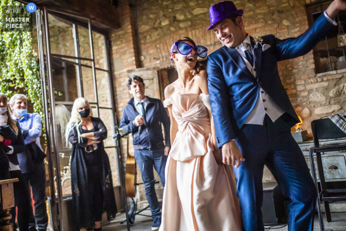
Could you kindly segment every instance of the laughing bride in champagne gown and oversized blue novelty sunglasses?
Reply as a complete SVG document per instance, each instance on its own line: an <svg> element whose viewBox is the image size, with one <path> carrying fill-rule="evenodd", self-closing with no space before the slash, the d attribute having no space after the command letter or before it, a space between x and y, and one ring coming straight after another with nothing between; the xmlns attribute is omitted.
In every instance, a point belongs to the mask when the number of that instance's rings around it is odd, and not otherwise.
<svg viewBox="0 0 346 231"><path fill-rule="evenodd" d="M178 79L165 89L172 149L160 231L241 231L233 168L222 163L216 147L207 72L197 61L207 51L188 37L171 48Z"/></svg>

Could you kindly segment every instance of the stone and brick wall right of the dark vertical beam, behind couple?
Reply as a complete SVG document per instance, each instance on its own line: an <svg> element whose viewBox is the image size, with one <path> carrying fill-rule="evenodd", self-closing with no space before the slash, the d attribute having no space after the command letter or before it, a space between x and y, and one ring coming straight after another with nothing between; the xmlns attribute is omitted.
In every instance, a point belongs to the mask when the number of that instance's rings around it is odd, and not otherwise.
<svg viewBox="0 0 346 231"><path fill-rule="evenodd" d="M221 47L212 31L208 9L219 0L146 0L135 5L140 67L172 68L169 50L185 36L209 53ZM305 4L311 0L235 0L244 9L245 29L251 36L273 34L279 39L297 37L307 28ZM312 51L278 63L282 83L287 89L303 129L311 136L310 122L346 109L346 70L315 74ZM161 80L164 81L164 80Z"/></svg>

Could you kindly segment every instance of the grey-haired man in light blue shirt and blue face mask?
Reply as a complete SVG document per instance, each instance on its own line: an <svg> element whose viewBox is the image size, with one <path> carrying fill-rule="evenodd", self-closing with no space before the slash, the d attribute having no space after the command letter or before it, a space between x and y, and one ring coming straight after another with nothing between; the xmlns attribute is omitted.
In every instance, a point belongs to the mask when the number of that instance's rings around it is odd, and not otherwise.
<svg viewBox="0 0 346 231"><path fill-rule="evenodd" d="M38 113L28 113L27 97L24 94L14 94L9 100L9 106L13 112L11 118L19 123L25 144L24 151L18 153L19 167L23 180L32 188L35 201L35 215L32 209L28 215L30 217L29 229L30 231L46 231L48 215L45 204L46 174L43 162L45 154L40 143L41 117Z"/></svg>

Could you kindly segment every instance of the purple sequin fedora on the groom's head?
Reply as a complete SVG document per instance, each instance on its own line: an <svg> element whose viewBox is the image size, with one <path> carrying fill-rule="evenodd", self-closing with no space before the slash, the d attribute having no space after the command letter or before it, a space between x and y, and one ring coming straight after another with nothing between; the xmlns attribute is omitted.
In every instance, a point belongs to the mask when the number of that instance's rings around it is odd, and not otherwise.
<svg viewBox="0 0 346 231"><path fill-rule="evenodd" d="M207 31L213 29L214 24L216 24L218 21L229 18L232 16L240 15L243 16L244 10L237 9L233 1L221 1L216 3L215 5L212 5L212 7L209 8L209 15L210 15L210 27L207 29Z"/></svg>

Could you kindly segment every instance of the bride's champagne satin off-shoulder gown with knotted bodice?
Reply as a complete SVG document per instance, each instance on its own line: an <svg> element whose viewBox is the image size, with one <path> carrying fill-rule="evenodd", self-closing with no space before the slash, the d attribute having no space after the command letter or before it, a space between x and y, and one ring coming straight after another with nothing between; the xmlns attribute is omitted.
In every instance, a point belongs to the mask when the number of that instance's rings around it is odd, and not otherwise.
<svg viewBox="0 0 346 231"><path fill-rule="evenodd" d="M241 231L233 168L213 155L209 95L175 92L179 131L167 160L160 231Z"/></svg>

